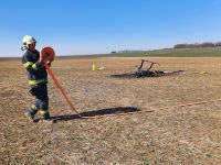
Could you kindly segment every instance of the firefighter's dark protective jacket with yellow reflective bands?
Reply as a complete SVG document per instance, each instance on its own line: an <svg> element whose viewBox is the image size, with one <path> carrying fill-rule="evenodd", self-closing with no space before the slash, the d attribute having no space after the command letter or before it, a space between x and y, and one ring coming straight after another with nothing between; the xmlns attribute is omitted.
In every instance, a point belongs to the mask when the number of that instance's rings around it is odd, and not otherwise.
<svg viewBox="0 0 221 165"><path fill-rule="evenodd" d="M30 86L48 82L46 68L44 67L43 62L40 62L39 58L40 53L36 50L34 52L27 50L22 56L22 64L28 72Z"/></svg>

